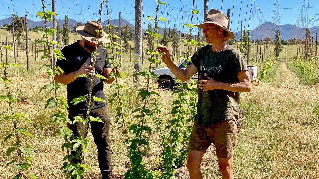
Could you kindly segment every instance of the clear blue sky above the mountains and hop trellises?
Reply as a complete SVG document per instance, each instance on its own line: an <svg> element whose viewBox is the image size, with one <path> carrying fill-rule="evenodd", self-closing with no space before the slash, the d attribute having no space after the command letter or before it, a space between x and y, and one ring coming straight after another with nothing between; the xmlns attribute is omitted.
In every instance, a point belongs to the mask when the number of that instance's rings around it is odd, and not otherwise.
<svg viewBox="0 0 319 179"><path fill-rule="evenodd" d="M159 17L168 19L169 23L161 22L159 26L173 28L176 24L180 31L187 31L187 28L183 28L183 23L190 23L191 21L190 12L193 0L160 1L166 1L167 5L160 6ZM275 2L276 0L208 0L208 9L222 9L227 14L227 9L230 8L231 31L233 32L240 31L240 21L243 21L244 29L248 27L254 29L264 21L307 26L308 23L306 22L309 22L319 10L318 0L277 0L278 5L275 5ZM52 4L52 0L46 0L45 3ZM64 16L68 15L70 19L83 23L90 19L97 20L100 3L101 0L56 0L57 18L64 19ZM134 0L108 0L110 18L119 18L119 12L121 11L122 18L135 25L134 3ZM309 8L301 11L304 4ZM277 6L279 7L279 13L278 10L274 11ZM260 10L257 9L258 7ZM36 13L42 10L41 0L1 0L0 9L0 19L11 17L12 13L24 16L25 12L29 12L28 19L32 20L40 20L39 17L36 17ZM48 5L48 9L52 10L52 5ZM194 9L199 10L200 13L194 16L193 24L202 22L204 0L197 0ZM143 28L147 28L147 16L155 16L155 10L155 0L143 0L143 18L145 19L143 20ZM107 20L105 14L106 5L104 3L102 21ZM311 26L318 27L317 15L316 20L310 24Z"/></svg>

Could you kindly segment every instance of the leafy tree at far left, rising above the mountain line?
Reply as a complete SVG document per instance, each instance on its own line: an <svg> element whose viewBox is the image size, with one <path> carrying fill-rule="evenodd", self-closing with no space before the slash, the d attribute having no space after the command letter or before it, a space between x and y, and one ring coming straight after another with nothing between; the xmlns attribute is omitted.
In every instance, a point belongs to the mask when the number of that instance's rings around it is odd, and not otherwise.
<svg viewBox="0 0 319 179"><path fill-rule="evenodd" d="M12 32L14 27L14 36L18 40L18 43L21 43L21 39L25 36L25 25L24 25L24 17L18 17L15 14L12 14L13 23L9 25L8 31Z"/></svg>

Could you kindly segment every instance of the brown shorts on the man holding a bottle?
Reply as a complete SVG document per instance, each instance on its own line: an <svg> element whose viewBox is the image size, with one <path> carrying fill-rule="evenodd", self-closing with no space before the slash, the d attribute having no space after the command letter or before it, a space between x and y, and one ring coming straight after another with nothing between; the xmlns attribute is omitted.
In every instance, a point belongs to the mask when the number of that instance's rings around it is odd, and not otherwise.
<svg viewBox="0 0 319 179"><path fill-rule="evenodd" d="M213 143L216 147L217 157L231 157L234 155L238 124L236 119L212 125L199 125L194 120L188 149L206 153L210 144Z"/></svg>

